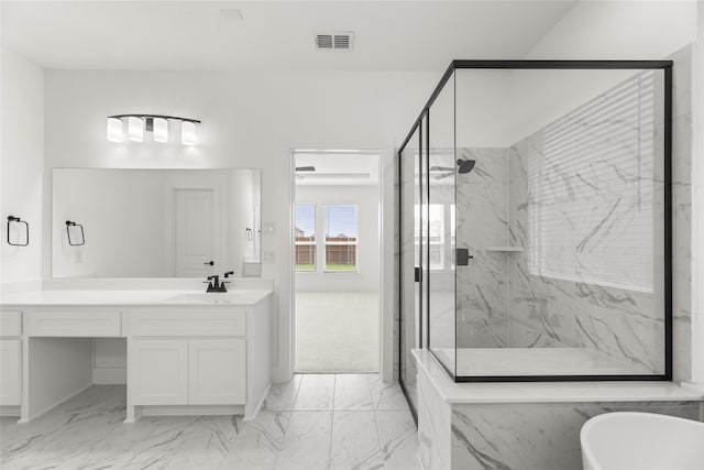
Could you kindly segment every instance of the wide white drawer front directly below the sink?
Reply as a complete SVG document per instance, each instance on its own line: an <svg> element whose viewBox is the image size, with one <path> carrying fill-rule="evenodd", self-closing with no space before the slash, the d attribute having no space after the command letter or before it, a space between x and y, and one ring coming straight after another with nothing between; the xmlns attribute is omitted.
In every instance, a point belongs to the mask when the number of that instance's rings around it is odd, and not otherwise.
<svg viewBox="0 0 704 470"><path fill-rule="evenodd" d="M135 309L129 324L130 336L245 336L246 310Z"/></svg>

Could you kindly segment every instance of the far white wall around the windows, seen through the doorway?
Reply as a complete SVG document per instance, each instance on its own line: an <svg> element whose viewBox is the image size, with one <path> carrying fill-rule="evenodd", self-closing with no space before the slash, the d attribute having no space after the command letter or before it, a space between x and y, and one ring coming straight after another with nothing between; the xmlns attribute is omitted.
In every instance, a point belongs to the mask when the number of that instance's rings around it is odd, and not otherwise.
<svg viewBox="0 0 704 470"><path fill-rule="evenodd" d="M358 205L358 272L326 273L320 254L324 244L319 237L318 271L297 273L296 291L374 291L380 288L380 189L367 186L301 186L296 187L296 204L316 204L317 233L322 234L323 204Z"/></svg>

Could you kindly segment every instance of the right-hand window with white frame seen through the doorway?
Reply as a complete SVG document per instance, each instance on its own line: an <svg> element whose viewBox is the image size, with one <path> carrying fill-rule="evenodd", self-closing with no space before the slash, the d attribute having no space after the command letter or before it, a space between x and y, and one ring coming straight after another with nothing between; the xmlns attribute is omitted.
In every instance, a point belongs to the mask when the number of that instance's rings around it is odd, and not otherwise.
<svg viewBox="0 0 704 470"><path fill-rule="evenodd" d="M326 271L356 271L356 205L323 205Z"/></svg>

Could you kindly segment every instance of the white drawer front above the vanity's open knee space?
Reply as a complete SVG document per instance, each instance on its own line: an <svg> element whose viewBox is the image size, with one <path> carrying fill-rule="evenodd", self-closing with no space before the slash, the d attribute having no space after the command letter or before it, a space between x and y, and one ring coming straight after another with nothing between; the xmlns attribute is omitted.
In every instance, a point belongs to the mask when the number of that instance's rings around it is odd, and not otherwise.
<svg viewBox="0 0 704 470"><path fill-rule="evenodd" d="M29 336L119 337L119 310L35 310L29 314Z"/></svg>

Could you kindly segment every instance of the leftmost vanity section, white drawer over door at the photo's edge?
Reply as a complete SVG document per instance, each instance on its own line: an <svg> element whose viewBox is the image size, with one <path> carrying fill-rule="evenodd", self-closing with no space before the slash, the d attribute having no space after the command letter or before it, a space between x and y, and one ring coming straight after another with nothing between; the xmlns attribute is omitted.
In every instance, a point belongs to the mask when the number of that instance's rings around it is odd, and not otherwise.
<svg viewBox="0 0 704 470"><path fill-rule="evenodd" d="M22 402L22 311L0 311L0 406Z"/></svg>

